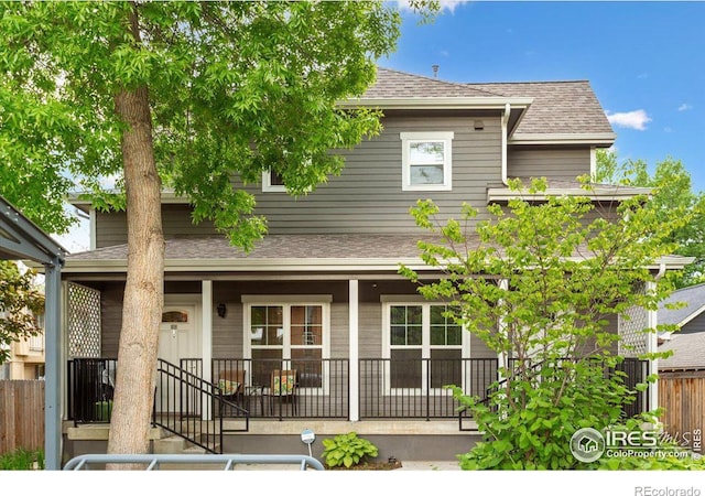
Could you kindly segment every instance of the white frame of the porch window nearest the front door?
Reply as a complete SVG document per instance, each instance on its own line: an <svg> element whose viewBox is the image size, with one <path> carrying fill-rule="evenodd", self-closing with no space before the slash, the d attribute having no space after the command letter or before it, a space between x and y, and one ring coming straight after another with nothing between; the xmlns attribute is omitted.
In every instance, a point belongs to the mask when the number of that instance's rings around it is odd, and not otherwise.
<svg viewBox="0 0 705 496"><path fill-rule="evenodd" d="M323 391L324 395L329 393L329 377L330 363L327 358L330 358L330 303L333 302L332 294L314 294L314 295L264 295L264 294L243 294L242 295L242 343L243 353L246 359L252 358L252 342L250 341L250 324L251 324L251 309L252 306L282 306L283 308L283 328L284 335L282 339L282 366L291 364L291 308L304 306L304 305L319 305L322 308L321 324L322 324L322 343L319 346L306 345L294 346L294 348L321 348L321 358L323 359L323 381L321 388L302 388L302 393L314 392L318 393ZM280 349L280 347L267 346L263 348Z"/></svg>

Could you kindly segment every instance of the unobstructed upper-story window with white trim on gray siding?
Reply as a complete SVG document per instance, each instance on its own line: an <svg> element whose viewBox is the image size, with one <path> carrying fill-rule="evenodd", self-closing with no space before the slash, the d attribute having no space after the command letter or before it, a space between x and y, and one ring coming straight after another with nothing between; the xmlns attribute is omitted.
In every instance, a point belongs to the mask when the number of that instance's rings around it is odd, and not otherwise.
<svg viewBox="0 0 705 496"><path fill-rule="evenodd" d="M401 132L402 190L451 191L452 131Z"/></svg>

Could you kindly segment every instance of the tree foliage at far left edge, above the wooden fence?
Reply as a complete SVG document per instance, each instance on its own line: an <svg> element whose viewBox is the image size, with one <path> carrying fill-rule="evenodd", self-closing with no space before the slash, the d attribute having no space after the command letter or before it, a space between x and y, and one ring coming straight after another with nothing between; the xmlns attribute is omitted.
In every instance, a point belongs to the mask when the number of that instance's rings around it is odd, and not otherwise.
<svg viewBox="0 0 705 496"><path fill-rule="evenodd" d="M17 262L0 261L0 365L10 358L10 345L42 332L36 315L44 313L44 295L35 273Z"/></svg>

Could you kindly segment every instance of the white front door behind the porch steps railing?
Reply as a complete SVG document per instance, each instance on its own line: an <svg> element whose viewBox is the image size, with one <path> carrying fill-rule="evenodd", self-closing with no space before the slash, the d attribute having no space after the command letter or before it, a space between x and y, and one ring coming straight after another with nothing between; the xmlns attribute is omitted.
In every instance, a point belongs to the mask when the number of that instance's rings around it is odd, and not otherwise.
<svg viewBox="0 0 705 496"><path fill-rule="evenodd" d="M171 365L166 373L156 377L156 411L195 411L197 398L192 388L182 381L191 376L181 374L178 367L183 366L186 371L197 375L196 359L203 357L200 334L199 305L193 300L183 304L165 301L160 325L159 357ZM184 358L188 360L182 363Z"/></svg>

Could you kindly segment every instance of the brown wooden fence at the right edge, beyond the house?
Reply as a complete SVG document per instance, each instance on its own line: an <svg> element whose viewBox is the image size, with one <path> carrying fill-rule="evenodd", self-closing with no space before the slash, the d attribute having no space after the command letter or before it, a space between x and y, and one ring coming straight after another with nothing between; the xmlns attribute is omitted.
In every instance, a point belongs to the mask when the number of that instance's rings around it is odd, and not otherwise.
<svg viewBox="0 0 705 496"><path fill-rule="evenodd" d="M705 453L702 448L705 430L705 370L659 373L659 407L665 410L661 416L665 432L677 442L684 442L685 436L688 436L688 444L694 451Z"/></svg>

